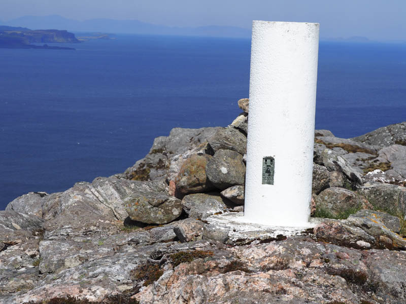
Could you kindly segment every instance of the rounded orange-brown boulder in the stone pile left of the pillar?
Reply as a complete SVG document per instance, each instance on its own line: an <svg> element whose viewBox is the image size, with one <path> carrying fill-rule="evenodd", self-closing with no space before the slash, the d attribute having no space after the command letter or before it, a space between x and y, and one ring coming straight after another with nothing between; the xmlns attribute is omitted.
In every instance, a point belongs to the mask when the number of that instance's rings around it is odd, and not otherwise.
<svg viewBox="0 0 406 304"><path fill-rule="evenodd" d="M175 178L176 196L207 192L215 188L206 176L206 165L211 158L210 155L205 154L192 155L185 160Z"/></svg>

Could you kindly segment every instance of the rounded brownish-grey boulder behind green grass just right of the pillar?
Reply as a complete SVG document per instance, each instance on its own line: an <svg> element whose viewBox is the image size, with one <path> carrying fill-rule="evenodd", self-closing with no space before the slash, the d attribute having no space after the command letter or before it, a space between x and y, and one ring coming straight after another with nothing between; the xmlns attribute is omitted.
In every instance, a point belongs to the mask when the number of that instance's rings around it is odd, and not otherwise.
<svg viewBox="0 0 406 304"><path fill-rule="evenodd" d="M316 208L331 213L333 216L340 216L349 209L373 208L364 197L339 187L330 187L323 190L314 198Z"/></svg>

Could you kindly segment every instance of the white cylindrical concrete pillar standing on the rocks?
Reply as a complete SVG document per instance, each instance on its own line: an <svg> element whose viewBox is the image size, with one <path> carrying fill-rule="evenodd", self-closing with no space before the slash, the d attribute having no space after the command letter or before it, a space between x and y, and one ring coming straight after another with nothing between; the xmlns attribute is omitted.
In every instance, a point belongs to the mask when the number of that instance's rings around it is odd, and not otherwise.
<svg viewBox="0 0 406 304"><path fill-rule="evenodd" d="M244 221L309 222L318 49L318 23L252 23Z"/></svg>

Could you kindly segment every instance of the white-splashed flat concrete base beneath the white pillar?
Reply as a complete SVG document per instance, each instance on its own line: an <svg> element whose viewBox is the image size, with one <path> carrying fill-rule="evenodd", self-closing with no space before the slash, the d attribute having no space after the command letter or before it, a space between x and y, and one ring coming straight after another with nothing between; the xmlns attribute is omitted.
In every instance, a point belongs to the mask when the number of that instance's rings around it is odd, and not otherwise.
<svg viewBox="0 0 406 304"><path fill-rule="evenodd" d="M293 235L308 234L307 230L312 229L322 220L311 218L310 222L303 226L283 227L248 222L243 213L240 212L228 212L206 218L206 221L216 230L228 233L227 243L240 245L282 240Z"/></svg>

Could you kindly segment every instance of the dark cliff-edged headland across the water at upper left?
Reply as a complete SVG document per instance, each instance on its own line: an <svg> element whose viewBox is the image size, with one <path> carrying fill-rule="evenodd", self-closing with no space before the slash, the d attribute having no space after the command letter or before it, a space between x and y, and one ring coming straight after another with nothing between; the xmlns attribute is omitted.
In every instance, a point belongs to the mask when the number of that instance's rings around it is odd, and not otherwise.
<svg viewBox="0 0 406 304"><path fill-rule="evenodd" d="M40 46L32 43L45 44ZM31 30L26 27L0 26L0 48L75 50L74 48L48 46L46 43L80 43L80 41L76 39L74 33L66 30Z"/></svg>

